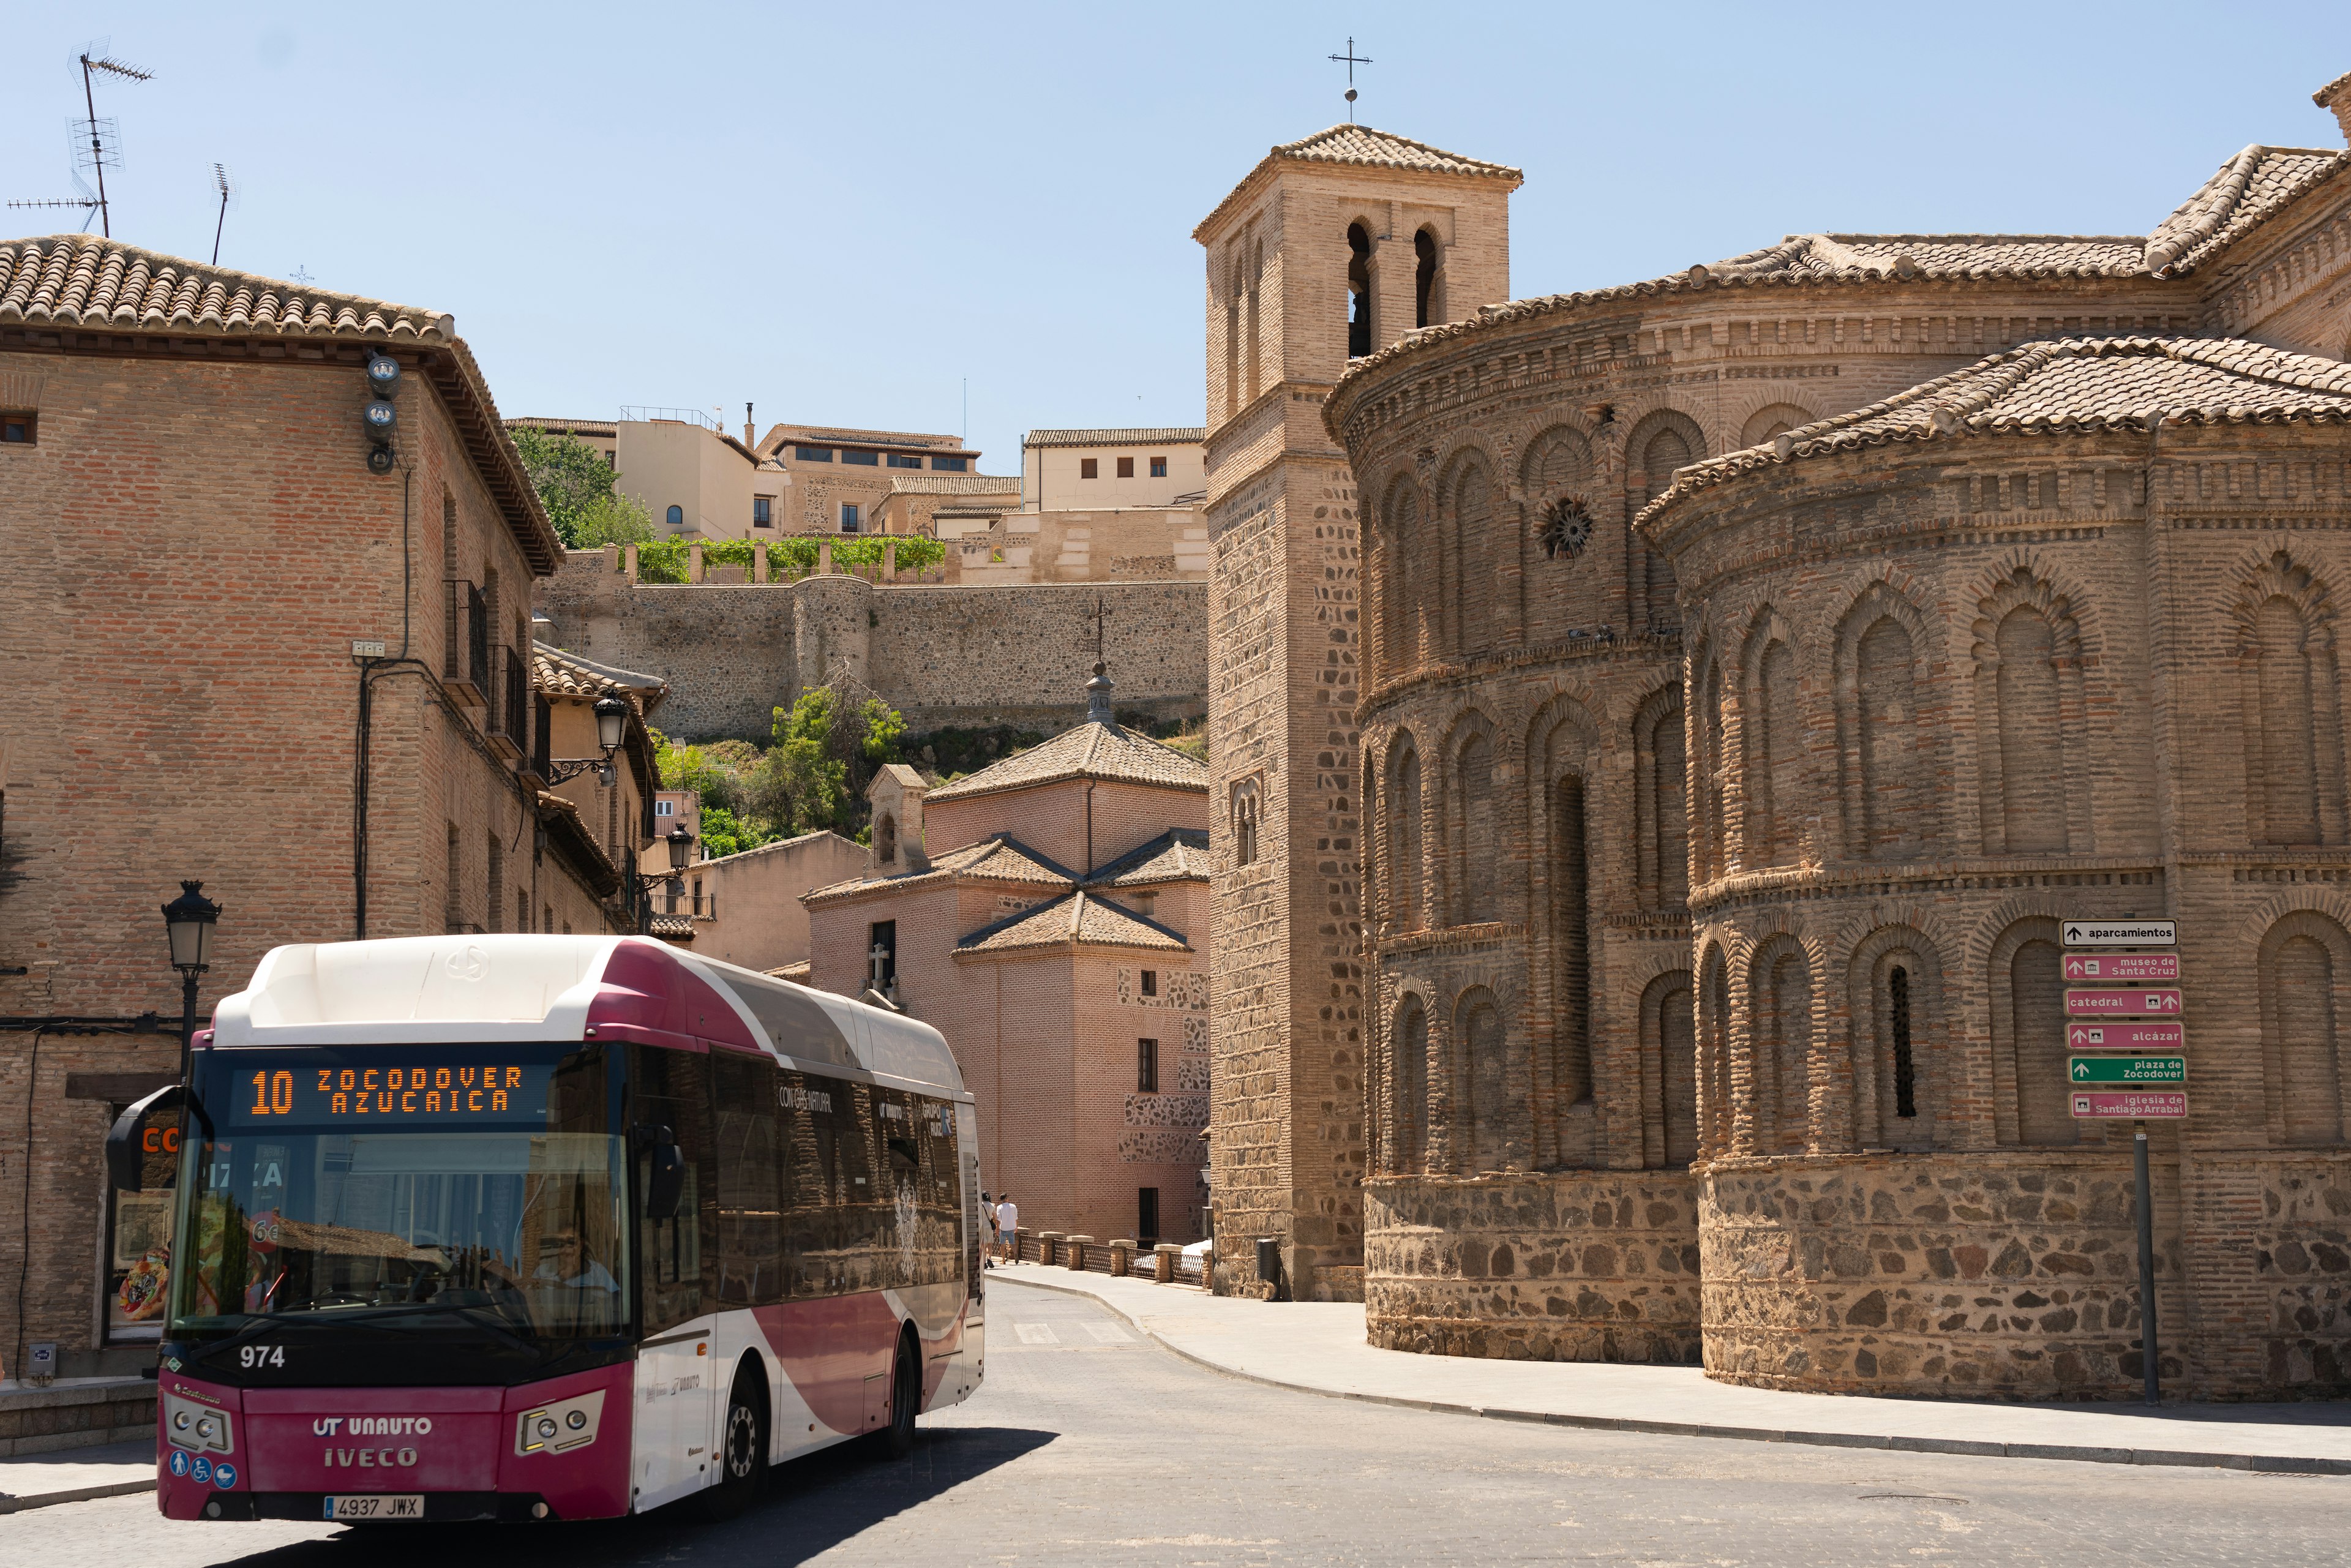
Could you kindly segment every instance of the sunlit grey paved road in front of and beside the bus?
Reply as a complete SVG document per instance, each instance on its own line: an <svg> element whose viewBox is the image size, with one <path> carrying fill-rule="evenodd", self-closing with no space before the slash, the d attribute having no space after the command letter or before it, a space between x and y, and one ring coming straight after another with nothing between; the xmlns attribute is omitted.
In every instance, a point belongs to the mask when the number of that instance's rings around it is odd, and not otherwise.
<svg viewBox="0 0 2351 1568"><path fill-rule="evenodd" d="M663 1514L355 1537L167 1526L153 1497L0 1519L9 1568L684 1563L2309 1563L2351 1479L1625 1436L1288 1394L1093 1302L990 1291L987 1387L912 1460L820 1455L738 1521ZM536 1537L536 1540L534 1540Z"/></svg>

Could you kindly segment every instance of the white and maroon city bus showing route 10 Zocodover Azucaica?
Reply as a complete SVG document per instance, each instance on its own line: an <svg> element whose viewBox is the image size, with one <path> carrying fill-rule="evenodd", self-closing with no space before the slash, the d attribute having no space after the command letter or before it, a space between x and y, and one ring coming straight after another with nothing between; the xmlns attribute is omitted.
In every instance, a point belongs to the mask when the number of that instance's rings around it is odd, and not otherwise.
<svg viewBox="0 0 2351 1568"><path fill-rule="evenodd" d="M167 1519L731 1512L980 1385L973 1100L891 1009L647 938L320 943L190 1056L108 1140L174 1182Z"/></svg>

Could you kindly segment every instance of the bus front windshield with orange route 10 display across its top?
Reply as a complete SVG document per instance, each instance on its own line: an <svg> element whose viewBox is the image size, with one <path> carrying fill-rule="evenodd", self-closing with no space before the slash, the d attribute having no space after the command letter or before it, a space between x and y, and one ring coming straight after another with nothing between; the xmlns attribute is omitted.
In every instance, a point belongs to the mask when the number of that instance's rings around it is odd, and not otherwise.
<svg viewBox="0 0 2351 1568"><path fill-rule="evenodd" d="M602 1046L197 1051L193 1081L169 1338L625 1333Z"/></svg>

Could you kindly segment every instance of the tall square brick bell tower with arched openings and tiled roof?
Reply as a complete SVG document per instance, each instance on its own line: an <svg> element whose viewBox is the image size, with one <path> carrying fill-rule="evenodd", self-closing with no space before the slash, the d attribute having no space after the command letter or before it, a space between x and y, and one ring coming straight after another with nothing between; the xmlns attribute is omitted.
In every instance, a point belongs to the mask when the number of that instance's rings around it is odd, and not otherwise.
<svg viewBox="0 0 2351 1568"><path fill-rule="evenodd" d="M1364 1300L1357 491L1347 360L1509 299L1516 169L1366 125L1272 148L1208 252L1218 1291ZM1281 1244L1260 1279L1255 1241Z"/></svg>

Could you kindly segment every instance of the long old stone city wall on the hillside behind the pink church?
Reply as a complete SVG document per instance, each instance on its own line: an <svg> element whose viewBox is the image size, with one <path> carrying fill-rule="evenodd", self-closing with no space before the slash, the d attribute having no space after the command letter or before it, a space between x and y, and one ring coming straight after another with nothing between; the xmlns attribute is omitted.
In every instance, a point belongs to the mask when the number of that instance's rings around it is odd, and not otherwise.
<svg viewBox="0 0 2351 1568"><path fill-rule="evenodd" d="M1096 599L1110 609L1103 637L1119 712L1204 712L1206 583L630 583L602 552L576 550L541 583L538 611L550 642L668 679L656 715L668 733L764 741L778 705L844 665L912 731L1067 729L1084 717Z"/></svg>

